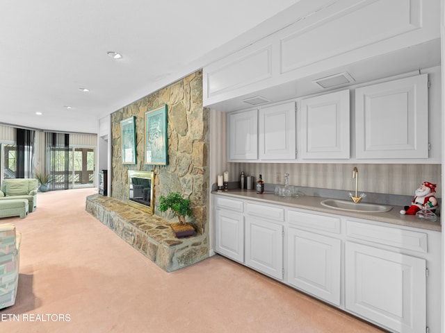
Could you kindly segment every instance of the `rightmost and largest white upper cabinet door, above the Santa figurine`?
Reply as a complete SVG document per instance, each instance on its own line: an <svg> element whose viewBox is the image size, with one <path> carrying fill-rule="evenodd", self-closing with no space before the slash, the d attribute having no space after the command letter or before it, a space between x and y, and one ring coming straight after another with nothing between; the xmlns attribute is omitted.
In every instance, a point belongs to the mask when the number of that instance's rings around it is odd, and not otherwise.
<svg viewBox="0 0 445 333"><path fill-rule="evenodd" d="M428 75L355 89L357 158L428 158Z"/></svg>

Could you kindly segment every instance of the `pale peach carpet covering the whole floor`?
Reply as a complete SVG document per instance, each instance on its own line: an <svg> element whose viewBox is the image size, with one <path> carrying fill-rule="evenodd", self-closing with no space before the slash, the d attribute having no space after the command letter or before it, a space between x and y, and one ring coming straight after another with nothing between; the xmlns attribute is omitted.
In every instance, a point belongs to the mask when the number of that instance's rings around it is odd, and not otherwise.
<svg viewBox="0 0 445 333"><path fill-rule="evenodd" d="M225 257L166 273L85 211L97 189L38 193L1 332L382 332Z"/></svg>

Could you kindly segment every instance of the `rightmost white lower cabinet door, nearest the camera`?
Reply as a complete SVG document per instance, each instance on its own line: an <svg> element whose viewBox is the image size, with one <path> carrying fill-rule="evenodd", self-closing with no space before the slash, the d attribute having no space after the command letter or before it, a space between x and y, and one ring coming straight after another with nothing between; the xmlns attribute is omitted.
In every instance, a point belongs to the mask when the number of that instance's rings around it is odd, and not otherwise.
<svg viewBox="0 0 445 333"><path fill-rule="evenodd" d="M425 332L426 260L347 241L346 309L394 332Z"/></svg>

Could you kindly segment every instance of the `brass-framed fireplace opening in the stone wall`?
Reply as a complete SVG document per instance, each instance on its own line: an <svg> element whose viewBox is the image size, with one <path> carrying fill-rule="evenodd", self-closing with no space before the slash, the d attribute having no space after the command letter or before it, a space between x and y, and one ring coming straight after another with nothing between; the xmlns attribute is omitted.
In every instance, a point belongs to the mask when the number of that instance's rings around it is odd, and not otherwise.
<svg viewBox="0 0 445 333"><path fill-rule="evenodd" d="M154 173L152 171L128 171L128 204L144 212L154 211Z"/></svg>

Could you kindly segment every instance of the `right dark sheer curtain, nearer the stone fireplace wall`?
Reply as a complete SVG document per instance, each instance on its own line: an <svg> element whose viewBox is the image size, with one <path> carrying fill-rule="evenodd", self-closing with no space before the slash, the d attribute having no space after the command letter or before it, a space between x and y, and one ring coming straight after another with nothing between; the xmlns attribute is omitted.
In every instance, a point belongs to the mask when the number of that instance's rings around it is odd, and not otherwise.
<svg viewBox="0 0 445 333"><path fill-rule="evenodd" d="M48 149L48 171L51 177L49 189L70 189L70 135L45 133Z"/></svg>

